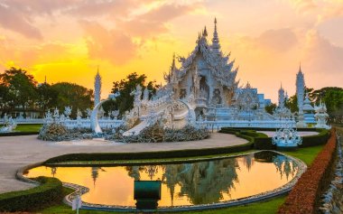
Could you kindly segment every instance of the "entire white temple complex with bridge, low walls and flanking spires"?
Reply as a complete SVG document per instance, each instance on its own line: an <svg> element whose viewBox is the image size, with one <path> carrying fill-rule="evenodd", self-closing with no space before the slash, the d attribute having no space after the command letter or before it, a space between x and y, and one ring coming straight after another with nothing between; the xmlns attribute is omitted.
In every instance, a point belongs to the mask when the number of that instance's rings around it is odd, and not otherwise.
<svg viewBox="0 0 343 214"><path fill-rule="evenodd" d="M205 27L202 33L199 33L196 45L189 56L173 56L172 66L168 73L164 74L167 84L159 88L152 98L149 98L149 91L146 88L143 90L138 85L131 93L134 96L134 108L125 112L121 120L116 119L117 111L111 113L115 119L108 116L108 119L104 120L104 114L100 114L101 105L106 100L100 101L101 77L97 70L93 111L87 111L87 119L81 119L79 114L79 123L67 120L68 125L90 126L94 133L101 134L101 128L113 128L124 124L128 131L123 135L138 135L145 127L156 122L165 128L176 129L187 125L206 126L212 129L223 126L295 127L294 116L291 110L285 107L287 95L283 87L279 89L278 107L271 115L264 109L270 103L270 99L264 99L264 94L258 93L257 88L253 88L248 82L245 87L238 86L238 68L234 65L235 60L230 60L230 54L224 54L220 48L217 20L211 42L208 37ZM176 65L176 60L180 62L180 67ZM300 109L297 126L305 127L316 121L311 100L308 96L304 99L304 84L304 75L300 69L296 81ZM118 94L110 95L108 99L115 99L116 96ZM323 121L320 115L317 118Z"/></svg>

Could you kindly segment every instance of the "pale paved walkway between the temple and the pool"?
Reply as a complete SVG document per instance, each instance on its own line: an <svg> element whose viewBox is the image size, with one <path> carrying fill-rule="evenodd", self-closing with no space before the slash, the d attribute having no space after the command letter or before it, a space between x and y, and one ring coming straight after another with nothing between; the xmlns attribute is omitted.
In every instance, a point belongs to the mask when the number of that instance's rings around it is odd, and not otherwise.
<svg viewBox="0 0 343 214"><path fill-rule="evenodd" d="M99 144L94 144L98 142ZM0 193L32 188L32 184L15 180L17 169L32 163L43 162L51 157L71 153L140 153L147 151L171 151L201 149L246 144L235 135L212 134L209 139L181 143L119 144L98 140L79 143L51 143L37 139L36 135L0 137Z"/></svg>

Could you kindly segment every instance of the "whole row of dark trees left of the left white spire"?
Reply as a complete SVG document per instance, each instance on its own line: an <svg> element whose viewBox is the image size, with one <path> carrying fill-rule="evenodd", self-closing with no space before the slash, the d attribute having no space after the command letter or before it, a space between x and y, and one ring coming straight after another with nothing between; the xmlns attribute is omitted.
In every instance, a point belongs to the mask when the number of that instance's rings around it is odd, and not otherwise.
<svg viewBox="0 0 343 214"><path fill-rule="evenodd" d="M26 70L11 68L0 74L0 112L5 113L34 110L41 116L51 108L60 111L65 106L73 108L76 116L78 108L85 110L93 105L93 91L77 84L61 82L50 85L37 84L37 81Z"/></svg>

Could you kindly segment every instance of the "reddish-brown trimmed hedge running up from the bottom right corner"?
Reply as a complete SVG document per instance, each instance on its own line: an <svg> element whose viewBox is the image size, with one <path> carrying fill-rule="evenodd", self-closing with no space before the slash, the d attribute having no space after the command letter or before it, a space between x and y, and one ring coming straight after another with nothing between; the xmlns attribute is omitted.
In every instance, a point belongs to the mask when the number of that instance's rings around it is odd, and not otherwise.
<svg viewBox="0 0 343 214"><path fill-rule="evenodd" d="M329 186L329 178L334 166L336 140L332 130L328 144L324 146L308 170L301 175L283 206L278 210L279 214L319 213L318 203L322 192Z"/></svg>

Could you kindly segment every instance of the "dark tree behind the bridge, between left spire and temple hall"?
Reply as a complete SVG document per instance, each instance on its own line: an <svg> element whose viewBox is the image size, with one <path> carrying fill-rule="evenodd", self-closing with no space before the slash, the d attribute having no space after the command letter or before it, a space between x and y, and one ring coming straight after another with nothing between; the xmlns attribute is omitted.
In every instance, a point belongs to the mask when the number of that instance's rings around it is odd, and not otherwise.
<svg viewBox="0 0 343 214"><path fill-rule="evenodd" d="M143 89L149 89L149 97L151 98L155 94L156 89L159 88L155 84L155 81L149 81L145 84L146 76L144 74L138 75L137 73L131 73L126 76L126 79L121 79L119 81L113 82L112 93L119 92L120 95L116 100L107 101L104 103L103 107L105 111L110 111L114 109L119 110L119 115L123 116L125 111L130 110L134 107L134 96L131 92L140 85Z"/></svg>

